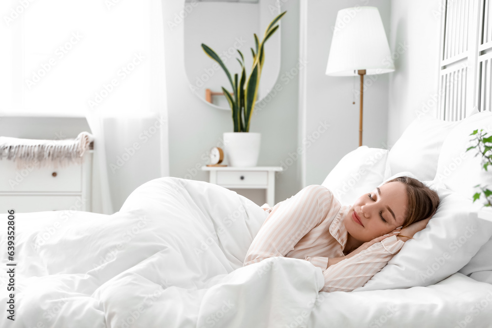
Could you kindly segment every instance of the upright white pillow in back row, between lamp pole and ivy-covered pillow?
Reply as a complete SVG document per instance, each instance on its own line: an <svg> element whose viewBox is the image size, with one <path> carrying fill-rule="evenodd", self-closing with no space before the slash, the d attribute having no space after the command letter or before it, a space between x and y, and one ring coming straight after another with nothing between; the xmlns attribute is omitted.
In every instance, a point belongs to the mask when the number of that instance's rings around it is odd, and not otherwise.
<svg viewBox="0 0 492 328"><path fill-rule="evenodd" d="M410 171L421 181L434 179L441 146L458 123L429 115L415 119L390 149L391 172Z"/></svg>

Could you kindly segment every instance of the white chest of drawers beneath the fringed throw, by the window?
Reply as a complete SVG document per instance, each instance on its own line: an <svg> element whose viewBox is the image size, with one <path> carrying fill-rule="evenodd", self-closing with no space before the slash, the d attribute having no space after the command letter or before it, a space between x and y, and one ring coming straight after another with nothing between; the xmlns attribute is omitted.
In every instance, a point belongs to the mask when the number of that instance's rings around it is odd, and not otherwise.
<svg viewBox="0 0 492 328"><path fill-rule="evenodd" d="M87 150L82 164L62 168L27 165L0 160L0 213L46 210L91 211L92 155Z"/></svg>

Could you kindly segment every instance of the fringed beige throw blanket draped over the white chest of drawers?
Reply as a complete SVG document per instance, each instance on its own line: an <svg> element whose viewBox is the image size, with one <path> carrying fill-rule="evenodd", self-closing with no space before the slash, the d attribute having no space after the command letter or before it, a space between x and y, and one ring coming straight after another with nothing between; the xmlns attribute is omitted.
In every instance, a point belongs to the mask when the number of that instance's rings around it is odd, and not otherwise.
<svg viewBox="0 0 492 328"><path fill-rule="evenodd" d="M26 165L66 166L82 163L84 153L94 140L92 134L81 132L75 139L36 140L0 137L0 160L8 159L21 169Z"/></svg>

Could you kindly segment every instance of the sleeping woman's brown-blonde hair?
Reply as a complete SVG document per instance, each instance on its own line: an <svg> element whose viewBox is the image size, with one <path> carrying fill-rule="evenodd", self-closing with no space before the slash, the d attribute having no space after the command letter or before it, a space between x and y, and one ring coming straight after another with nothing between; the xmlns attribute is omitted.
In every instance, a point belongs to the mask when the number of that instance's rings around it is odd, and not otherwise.
<svg viewBox="0 0 492 328"><path fill-rule="evenodd" d="M386 183L401 182L405 185L408 207L403 227L432 216L439 206L437 193L417 179L398 177Z"/></svg>

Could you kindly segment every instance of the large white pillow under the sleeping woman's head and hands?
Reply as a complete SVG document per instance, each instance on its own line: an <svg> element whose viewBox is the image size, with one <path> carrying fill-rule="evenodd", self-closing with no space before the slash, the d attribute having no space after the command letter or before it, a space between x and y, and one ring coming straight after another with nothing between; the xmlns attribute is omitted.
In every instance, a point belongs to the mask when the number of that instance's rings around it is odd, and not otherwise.
<svg viewBox="0 0 492 328"><path fill-rule="evenodd" d="M448 189L437 193L440 204L427 227L356 292L435 284L463 268L491 238L492 225L481 226L477 218L480 206Z"/></svg>

